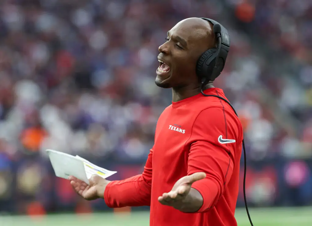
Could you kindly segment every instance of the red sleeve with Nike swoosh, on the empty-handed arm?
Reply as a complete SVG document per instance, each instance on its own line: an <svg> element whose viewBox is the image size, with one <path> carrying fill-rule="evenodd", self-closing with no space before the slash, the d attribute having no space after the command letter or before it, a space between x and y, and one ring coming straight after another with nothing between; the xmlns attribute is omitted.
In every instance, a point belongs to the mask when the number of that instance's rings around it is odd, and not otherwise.
<svg viewBox="0 0 312 226"><path fill-rule="evenodd" d="M229 139L232 143L220 143L220 135L221 142ZM207 108L196 118L190 138L188 175L196 172L207 174L205 179L192 185L203 197L203 205L198 212L209 210L222 196L232 176L237 144L241 142L239 136L239 121L227 109Z"/></svg>

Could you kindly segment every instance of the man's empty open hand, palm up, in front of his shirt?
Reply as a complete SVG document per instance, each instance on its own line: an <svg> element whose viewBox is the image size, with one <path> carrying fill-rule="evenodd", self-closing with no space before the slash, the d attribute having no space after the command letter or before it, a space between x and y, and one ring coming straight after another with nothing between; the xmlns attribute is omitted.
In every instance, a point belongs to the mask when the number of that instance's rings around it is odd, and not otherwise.
<svg viewBox="0 0 312 226"><path fill-rule="evenodd" d="M185 205L185 199L191 191L191 186L195 181L204 179L206 173L199 172L180 178L168 193L163 193L158 197L158 201L163 205L172 206L175 209L180 209Z"/></svg>

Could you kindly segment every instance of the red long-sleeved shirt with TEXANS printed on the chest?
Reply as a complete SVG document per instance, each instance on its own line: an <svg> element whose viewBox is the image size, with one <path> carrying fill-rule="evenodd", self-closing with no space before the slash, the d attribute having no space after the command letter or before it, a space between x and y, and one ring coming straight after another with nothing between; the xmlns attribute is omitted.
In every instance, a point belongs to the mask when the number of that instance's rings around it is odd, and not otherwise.
<svg viewBox="0 0 312 226"><path fill-rule="evenodd" d="M221 89L206 94L225 98ZM202 94L173 102L158 119L154 146L144 172L105 189L109 207L150 205L150 226L234 226L243 131L232 108ZM158 196L195 172L206 178L193 183L203 197L196 213L162 205Z"/></svg>

